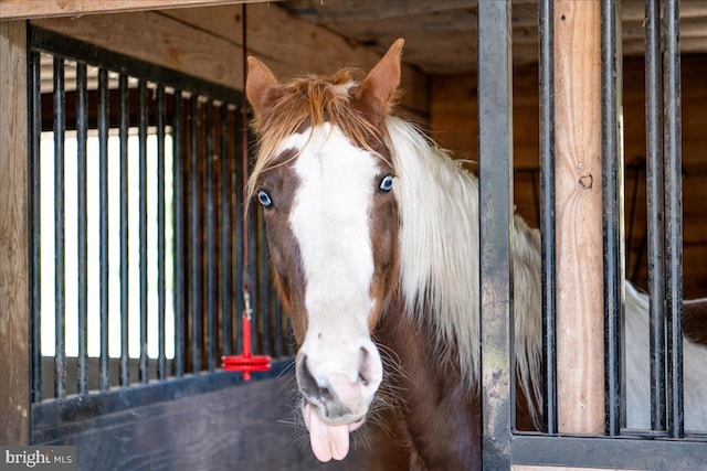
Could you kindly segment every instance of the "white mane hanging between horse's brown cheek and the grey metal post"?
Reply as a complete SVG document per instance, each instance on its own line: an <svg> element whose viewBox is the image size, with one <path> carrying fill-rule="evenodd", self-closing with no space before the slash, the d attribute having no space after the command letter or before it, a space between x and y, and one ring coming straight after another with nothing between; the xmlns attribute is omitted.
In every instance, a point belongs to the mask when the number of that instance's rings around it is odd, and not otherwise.
<svg viewBox="0 0 707 471"><path fill-rule="evenodd" d="M431 344L455 362L471 387L478 376L478 190L412 125L389 118L401 233L401 295L405 311L434 325ZM455 346L455 351L452 351Z"/></svg>

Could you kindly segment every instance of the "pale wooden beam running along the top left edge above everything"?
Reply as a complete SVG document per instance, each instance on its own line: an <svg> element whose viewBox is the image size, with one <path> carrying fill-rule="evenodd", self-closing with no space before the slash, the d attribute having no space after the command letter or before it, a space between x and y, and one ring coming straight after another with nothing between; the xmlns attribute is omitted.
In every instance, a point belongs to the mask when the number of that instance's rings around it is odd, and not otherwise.
<svg viewBox="0 0 707 471"><path fill-rule="evenodd" d="M271 0L0 0L0 21L263 1Z"/></svg>

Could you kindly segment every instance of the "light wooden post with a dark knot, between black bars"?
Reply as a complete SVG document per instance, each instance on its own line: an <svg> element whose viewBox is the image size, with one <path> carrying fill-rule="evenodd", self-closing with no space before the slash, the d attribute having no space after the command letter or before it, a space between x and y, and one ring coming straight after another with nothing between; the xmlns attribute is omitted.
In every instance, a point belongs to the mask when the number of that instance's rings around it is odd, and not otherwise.
<svg viewBox="0 0 707 471"><path fill-rule="evenodd" d="M604 432L600 2L555 2L558 428Z"/></svg>

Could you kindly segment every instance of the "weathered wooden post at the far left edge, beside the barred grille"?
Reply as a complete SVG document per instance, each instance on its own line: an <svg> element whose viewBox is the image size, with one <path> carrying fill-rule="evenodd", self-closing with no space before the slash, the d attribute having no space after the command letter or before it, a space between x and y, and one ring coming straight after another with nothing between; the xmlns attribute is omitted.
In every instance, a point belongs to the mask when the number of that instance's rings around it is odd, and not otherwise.
<svg viewBox="0 0 707 471"><path fill-rule="evenodd" d="M30 438L27 25L0 22L0 443Z"/></svg>

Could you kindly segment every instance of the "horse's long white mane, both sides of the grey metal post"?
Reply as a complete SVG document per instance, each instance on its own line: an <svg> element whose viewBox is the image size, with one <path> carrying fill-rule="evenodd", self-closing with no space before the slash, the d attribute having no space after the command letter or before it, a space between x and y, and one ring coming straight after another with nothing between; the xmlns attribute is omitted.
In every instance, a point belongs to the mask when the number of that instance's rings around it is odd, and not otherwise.
<svg viewBox="0 0 707 471"><path fill-rule="evenodd" d="M458 349L462 377L478 379L478 182L413 125L389 117L388 147L397 172L402 220L401 283L410 312L428 306L436 315L436 342L450 361ZM513 233L516 361L526 397L540 398L530 378L540 372L539 233L515 217ZM532 376L531 376L532 374Z"/></svg>

